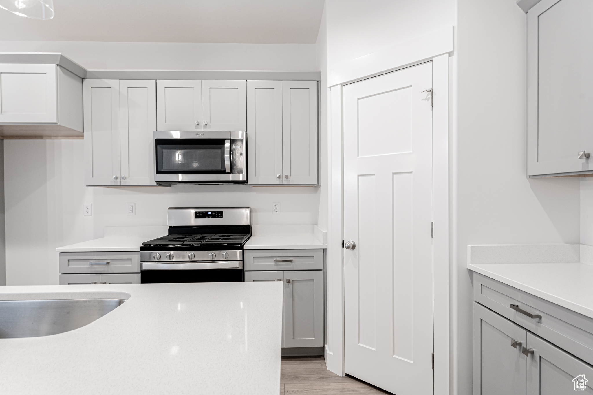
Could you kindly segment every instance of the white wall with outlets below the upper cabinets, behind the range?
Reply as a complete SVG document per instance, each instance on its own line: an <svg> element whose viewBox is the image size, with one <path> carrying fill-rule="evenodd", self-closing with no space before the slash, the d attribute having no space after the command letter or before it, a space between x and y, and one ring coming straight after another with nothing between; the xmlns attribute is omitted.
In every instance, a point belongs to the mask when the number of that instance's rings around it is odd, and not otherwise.
<svg viewBox="0 0 593 395"><path fill-rule="evenodd" d="M168 207L247 205L253 224L317 223L319 187L84 187L82 140L5 140L4 152L7 285L58 284L56 247L103 237L104 226L166 225Z"/></svg>

